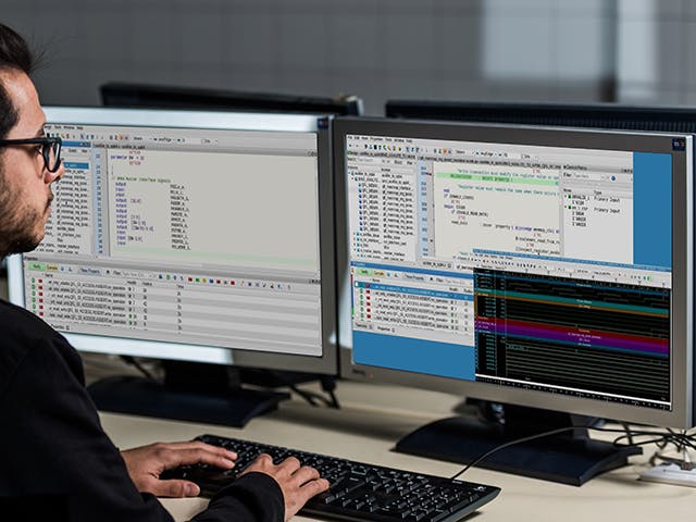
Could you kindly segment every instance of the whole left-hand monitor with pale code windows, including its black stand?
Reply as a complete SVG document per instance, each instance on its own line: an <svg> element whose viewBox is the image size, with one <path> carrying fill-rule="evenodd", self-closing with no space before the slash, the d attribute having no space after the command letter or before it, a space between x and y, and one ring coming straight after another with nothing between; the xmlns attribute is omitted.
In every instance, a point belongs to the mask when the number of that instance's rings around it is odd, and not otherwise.
<svg viewBox="0 0 696 522"><path fill-rule="evenodd" d="M281 395L228 389L233 369L336 375L331 117L46 114L65 175L10 300L78 350L170 361L176 388L107 380L101 409L243 425Z"/></svg>

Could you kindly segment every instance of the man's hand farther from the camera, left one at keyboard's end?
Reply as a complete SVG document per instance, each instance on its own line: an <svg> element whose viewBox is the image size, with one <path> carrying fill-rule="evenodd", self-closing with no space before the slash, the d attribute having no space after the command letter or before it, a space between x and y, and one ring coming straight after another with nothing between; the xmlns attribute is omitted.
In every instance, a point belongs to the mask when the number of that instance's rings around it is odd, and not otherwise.
<svg viewBox="0 0 696 522"><path fill-rule="evenodd" d="M156 443L121 451L121 456L138 490L158 497L195 497L200 493L189 481L160 480L164 470L200 462L229 470L237 458L234 451L200 442Z"/></svg>

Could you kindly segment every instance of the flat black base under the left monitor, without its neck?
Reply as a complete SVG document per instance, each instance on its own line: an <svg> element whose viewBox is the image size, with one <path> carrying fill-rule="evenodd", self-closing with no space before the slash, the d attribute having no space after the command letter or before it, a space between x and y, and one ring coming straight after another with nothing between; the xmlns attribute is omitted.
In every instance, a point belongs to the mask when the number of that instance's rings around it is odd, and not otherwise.
<svg viewBox="0 0 696 522"><path fill-rule="evenodd" d="M224 394L164 386L141 377L113 376L88 386L102 411L244 427L252 418L277 409L289 395L235 388Z"/></svg>

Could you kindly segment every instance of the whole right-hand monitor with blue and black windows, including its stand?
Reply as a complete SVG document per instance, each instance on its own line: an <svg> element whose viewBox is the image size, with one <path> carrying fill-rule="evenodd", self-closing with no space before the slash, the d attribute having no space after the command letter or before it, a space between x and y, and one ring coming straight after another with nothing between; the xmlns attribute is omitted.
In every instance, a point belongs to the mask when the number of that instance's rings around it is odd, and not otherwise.
<svg viewBox="0 0 696 522"><path fill-rule="evenodd" d="M694 425L691 135L341 119L334 144L343 375L527 407L397 449ZM579 485L635 452L573 435L480 465Z"/></svg>

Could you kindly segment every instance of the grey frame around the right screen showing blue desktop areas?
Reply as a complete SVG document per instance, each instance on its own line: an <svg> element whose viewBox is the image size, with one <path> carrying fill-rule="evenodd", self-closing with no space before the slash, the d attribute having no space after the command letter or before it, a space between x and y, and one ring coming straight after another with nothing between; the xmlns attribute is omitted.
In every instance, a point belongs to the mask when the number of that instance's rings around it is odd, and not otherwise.
<svg viewBox="0 0 696 522"><path fill-rule="evenodd" d="M473 381L410 373L374 365L355 363L351 350L349 231L347 215L347 178L345 164L346 136L376 135L453 139L487 142L517 142L589 147L597 149L636 150L649 146L656 137L684 138L684 176L672 186L672 346L678 349L671 357L671 411L654 410L625 403L576 398L523 388L497 386ZM622 146L623 144L623 146ZM659 426L692 427L693 413L693 346L692 346L692 288L693 288L693 137L683 133L654 133L630 130L601 130L570 127L540 127L506 124L474 124L437 121L409 121L388 119L338 119L334 125L334 161L336 171L336 226L338 263L338 328L339 364L341 377L374 383L389 383L457 394L478 399L570 413L617 419ZM679 171L675 169L674 172ZM680 369L684 369L680 372Z"/></svg>

